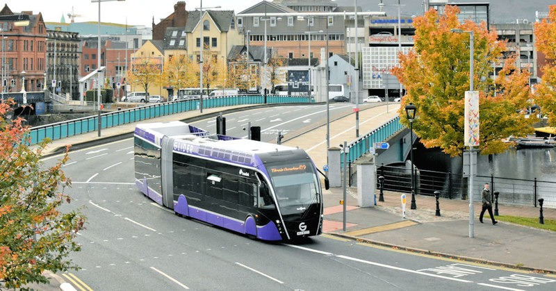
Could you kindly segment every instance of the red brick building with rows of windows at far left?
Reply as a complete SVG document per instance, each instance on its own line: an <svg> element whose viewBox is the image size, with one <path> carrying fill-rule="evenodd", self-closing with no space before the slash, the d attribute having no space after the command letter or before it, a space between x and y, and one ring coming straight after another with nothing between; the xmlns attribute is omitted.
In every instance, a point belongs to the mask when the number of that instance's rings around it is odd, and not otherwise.
<svg viewBox="0 0 556 291"><path fill-rule="evenodd" d="M7 5L0 10L0 15L15 14L19 13L13 13ZM25 72L25 90L39 91L44 87L47 28L41 13L33 15L32 11L22 11L21 14L29 15L28 26L15 26L13 22L0 23L5 37L4 60L8 80L15 80L15 87L10 87L9 90L22 90L22 73Z"/></svg>

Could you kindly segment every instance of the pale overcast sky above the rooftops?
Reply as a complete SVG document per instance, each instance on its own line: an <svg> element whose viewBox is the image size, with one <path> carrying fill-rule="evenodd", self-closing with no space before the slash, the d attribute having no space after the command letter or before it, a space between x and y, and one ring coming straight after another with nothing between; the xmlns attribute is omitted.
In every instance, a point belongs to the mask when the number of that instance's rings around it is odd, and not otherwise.
<svg viewBox="0 0 556 291"><path fill-rule="evenodd" d="M151 26L152 19L158 24L161 19L174 12L174 4L178 0L125 0L106 1L101 3L101 21L125 24L126 18L129 25ZM240 13L250 8L261 0L205 0L204 7L222 6L224 10L234 10ZM358 6L363 11L378 11L380 0L358 0ZM385 10L389 15L396 16L397 8L391 4L397 4L395 0L383 0L387 5ZM489 0L450 0L449 2L475 2ZM104 1L103 1L104 2ZM494 22L512 22L515 19L529 19L534 21L534 11L548 11L548 5L556 4L555 0L490 0L491 16ZM0 2L1 3L1 2ZM42 13L45 22L60 22L64 15L66 22L70 22L68 13L72 12L82 15L76 17L76 22L97 22L98 3L90 0L8 0L4 2L10 9L19 13L32 10L34 14ZM338 6L352 6L354 0L338 0ZM422 15L422 0L401 0L403 15ZM186 10L195 10L200 6L200 0L186 0Z"/></svg>

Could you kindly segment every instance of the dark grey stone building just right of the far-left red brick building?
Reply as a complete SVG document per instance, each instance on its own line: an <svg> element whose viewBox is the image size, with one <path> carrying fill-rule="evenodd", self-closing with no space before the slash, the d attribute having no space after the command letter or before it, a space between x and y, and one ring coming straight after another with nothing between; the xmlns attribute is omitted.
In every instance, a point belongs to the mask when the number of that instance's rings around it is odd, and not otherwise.
<svg viewBox="0 0 556 291"><path fill-rule="evenodd" d="M81 46L79 33L47 31L47 88L79 99Z"/></svg>

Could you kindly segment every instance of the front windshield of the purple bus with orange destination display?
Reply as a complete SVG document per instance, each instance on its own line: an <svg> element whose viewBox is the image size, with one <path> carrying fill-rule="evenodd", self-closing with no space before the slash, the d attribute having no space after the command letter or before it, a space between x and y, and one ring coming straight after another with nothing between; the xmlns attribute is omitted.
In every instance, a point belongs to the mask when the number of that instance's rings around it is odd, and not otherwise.
<svg viewBox="0 0 556 291"><path fill-rule="evenodd" d="M297 208L309 208L320 202L317 176L311 163L270 165L268 174L274 186L278 205L285 215L300 213Z"/></svg>

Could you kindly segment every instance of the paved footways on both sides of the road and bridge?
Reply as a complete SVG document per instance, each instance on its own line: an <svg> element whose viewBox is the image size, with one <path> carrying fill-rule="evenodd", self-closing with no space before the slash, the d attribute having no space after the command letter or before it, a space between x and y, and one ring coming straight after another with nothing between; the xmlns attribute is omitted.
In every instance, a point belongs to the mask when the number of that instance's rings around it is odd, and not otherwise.
<svg viewBox="0 0 556 291"><path fill-rule="evenodd" d="M359 133L363 135L377 126L395 117L399 103L391 103L389 112L386 106L362 107L359 113ZM226 110L247 110L256 106L229 106ZM180 113L149 119L147 122L163 122L181 119L203 119L215 116L222 108L209 108L203 115L198 111ZM144 121L145 122L145 121ZM355 117L348 115L339 118L330 125L330 144L335 146L343 141L355 139ZM74 148L89 147L91 144L108 142L133 133L136 123L104 128L102 137L97 132L85 133L61 140L54 140L43 152L49 156L60 152L65 144L73 144ZM322 169L327 164L326 157L326 126L291 138L284 145L305 149L313 158L316 166ZM357 207L357 188L347 189L346 229L343 231L343 199L342 188L325 190L325 233L345 238L352 238L370 244L379 244L395 249L405 249L418 253L429 253L434 256L458 258L471 262L487 263L516 269L556 274L556 263L553 251L556 249L556 232L543 231L499 222L492 225L488 214L481 224L478 215L480 203L475 203L474 238L470 238L468 201L461 199L439 199L441 216L435 216L436 201L434 197L416 195L416 210L409 209L411 197L407 196L406 217L402 217L399 192L384 192L384 202L369 208ZM377 201L379 193L377 191ZM500 215L520 217L539 217L539 208L521 206L499 207ZM544 208L545 219L556 220L556 209ZM73 290L61 276L49 273L51 284L41 285L35 290ZM44 287L44 288L43 288Z"/></svg>

